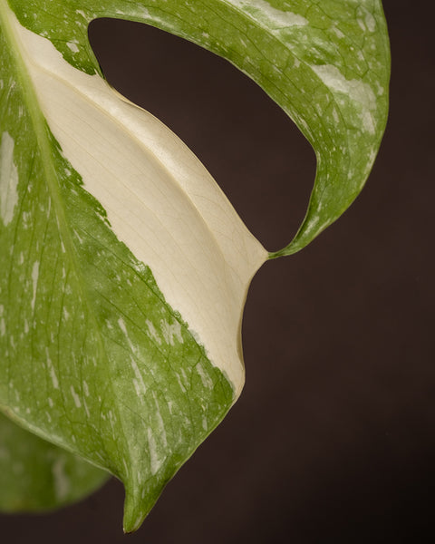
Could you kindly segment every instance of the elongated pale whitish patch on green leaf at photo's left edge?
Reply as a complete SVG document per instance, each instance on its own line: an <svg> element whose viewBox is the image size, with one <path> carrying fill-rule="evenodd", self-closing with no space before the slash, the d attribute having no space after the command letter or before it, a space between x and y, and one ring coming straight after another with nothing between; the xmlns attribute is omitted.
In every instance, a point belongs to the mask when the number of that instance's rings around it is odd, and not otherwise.
<svg viewBox="0 0 435 544"><path fill-rule="evenodd" d="M14 139L3 132L0 143L0 216L8 225L14 219L18 203L18 170L14 164Z"/></svg>

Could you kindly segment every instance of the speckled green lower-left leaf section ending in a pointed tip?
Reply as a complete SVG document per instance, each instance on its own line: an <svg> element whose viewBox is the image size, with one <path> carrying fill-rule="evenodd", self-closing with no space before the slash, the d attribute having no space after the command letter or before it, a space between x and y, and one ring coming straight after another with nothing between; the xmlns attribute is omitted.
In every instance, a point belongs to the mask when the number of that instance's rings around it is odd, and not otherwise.
<svg viewBox="0 0 435 544"><path fill-rule="evenodd" d="M233 388L83 189L0 21L0 409L121 479L133 530Z"/></svg>

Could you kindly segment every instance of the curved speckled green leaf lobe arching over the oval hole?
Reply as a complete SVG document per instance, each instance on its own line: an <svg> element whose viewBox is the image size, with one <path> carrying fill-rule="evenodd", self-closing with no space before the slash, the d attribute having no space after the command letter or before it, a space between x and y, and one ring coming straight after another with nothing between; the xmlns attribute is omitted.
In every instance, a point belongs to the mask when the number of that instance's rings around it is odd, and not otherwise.
<svg viewBox="0 0 435 544"><path fill-rule="evenodd" d="M372 170L390 78L381 0L81 0L52 2L48 11L41 1L12 5L23 24L86 73L98 70L87 24L114 17L178 34L256 81L295 121L317 159L304 221L292 242L271 257L310 243L350 206Z"/></svg>

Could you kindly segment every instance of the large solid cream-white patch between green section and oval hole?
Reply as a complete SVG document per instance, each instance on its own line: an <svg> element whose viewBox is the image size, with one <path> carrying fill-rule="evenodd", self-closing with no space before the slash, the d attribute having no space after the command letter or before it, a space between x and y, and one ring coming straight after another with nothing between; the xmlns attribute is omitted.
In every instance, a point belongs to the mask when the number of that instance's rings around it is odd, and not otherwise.
<svg viewBox="0 0 435 544"><path fill-rule="evenodd" d="M249 282L266 260L265 248L166 126L99 75L73 68L49 40L10 16L41 109L64 156L102 203L116 236L150 267L169 305L238 396L244 383L242 310ZM158 342L179 341L174 325L162 322L159 330L144 321L143 326ZM157 457L151 464L159 464Z"/></svg>

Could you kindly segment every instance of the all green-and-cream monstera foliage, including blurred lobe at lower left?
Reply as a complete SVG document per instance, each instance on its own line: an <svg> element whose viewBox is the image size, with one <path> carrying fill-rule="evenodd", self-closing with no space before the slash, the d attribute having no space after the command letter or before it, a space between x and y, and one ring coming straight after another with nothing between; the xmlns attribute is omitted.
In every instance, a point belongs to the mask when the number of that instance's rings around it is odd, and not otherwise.
<svg viewBox="0 0 435 544"><path fill-rule="evenodd" d="M267 253L184 144L105 82L98 17L218 53L295 121L317 175L286 248ZM382 5L1 0L0 25L0 466L20 467L0 506L73 500L103 469L124 483L131 531L237 400L257 268L362 189L387 114Z"/></svg>

